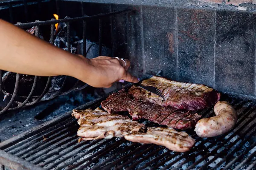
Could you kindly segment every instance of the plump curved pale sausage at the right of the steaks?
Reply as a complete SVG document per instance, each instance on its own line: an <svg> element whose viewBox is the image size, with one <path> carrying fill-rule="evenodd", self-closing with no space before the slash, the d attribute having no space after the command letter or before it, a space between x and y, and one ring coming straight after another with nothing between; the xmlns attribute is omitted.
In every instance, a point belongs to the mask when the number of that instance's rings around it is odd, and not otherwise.
<svg viewBox="0 0 256 170"><path fill-rule="evenodd" d="M195 133L199 137L219 136L236 125L237 113L229 102L218 101L213 110L216 116L201 119L195 125Z"/></svg>

